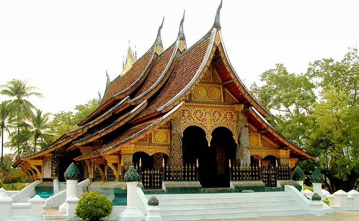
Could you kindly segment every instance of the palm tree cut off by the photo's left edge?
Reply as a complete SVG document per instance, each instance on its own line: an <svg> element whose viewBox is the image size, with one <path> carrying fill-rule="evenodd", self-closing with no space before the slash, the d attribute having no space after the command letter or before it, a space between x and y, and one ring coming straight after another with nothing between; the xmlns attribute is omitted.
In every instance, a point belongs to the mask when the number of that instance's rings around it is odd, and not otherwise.
<svg viewBox="0 0 359 221"><path fill-rule="evenodd" d="M4 132L10 134L10 130L15 127L13 112L8 103L9 101L3 101L0 104L1 162L4 153Z"/></svg>

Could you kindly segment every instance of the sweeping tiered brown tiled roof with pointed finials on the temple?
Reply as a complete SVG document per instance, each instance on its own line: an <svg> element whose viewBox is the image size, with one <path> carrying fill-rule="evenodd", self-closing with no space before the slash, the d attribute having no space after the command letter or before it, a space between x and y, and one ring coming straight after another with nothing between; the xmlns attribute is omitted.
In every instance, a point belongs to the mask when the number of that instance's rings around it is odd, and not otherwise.
<svg viewBox="0 0 359 221"><path fill-rule="evenodd" d="M221 35L221 7L222 2L210 31L188 49L183 33L184 14L176 41L164 51L162 23L150 49L127 73L107 85L97 110L82 120L78 128L66 132L48 148L22 156L14 166L53 151L68 152L96 140L101 140L102 146L76 160L119 152L179 113L211 64L235 102L248 107L245 115L252 125L261 128L261 133L275 140L279 147L289 148L292 155L313 158L273 129L264 119L271 114L249 93L235 73Z"/></svg>

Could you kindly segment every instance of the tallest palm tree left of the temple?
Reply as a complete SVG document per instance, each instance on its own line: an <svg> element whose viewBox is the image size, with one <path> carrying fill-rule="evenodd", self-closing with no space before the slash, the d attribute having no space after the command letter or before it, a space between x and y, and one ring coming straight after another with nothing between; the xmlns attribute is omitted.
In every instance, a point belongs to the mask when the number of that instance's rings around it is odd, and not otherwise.
<svg viewBox="0 0 359 221"><path fill-rule="evenodd" d="M20 134L20 123L24 121L24 119L28 118L32 114L31 110L34 109L33 104L25 99L32 96L42 97L41 93L34 92L37 87L28 86L26 85L27 83L27 80L21 81L13 79L7 82L6 85L0 86L0 88L2 88L0 94L14 98L8 105L14 111L13 113L17 123L17 134ZM17 157L19 157L20 145L18 143L17 149Z"/></svg>

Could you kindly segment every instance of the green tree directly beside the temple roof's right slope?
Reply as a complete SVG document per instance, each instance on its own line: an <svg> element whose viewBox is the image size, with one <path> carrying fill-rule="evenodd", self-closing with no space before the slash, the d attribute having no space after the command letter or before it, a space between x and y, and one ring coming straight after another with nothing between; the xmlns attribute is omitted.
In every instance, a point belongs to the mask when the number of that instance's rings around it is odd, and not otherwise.
<svg viewBox="0 0 359 221"><path fill-rule="evenodd" d="M270 121L284 136L299 147L304 146L310 126L310 112L315 104L314 85L301 74L288 73L282 64L261 75L264 85L251 86L252 94L275 115Z"/></svg>

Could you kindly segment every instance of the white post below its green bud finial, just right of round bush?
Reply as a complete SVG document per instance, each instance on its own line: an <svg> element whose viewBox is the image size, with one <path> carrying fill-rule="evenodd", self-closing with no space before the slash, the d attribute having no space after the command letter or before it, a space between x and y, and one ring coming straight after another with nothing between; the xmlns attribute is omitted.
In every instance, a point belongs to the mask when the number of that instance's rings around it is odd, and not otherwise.
<svg viewBox="0 0 359 221"><path fill-rule="evenodd" d="M126 209L117 216L118 221L143 221L145 214L137 207L137 182L126 182L127 184L127 206Z"/></svg>

